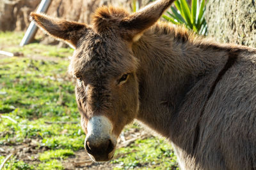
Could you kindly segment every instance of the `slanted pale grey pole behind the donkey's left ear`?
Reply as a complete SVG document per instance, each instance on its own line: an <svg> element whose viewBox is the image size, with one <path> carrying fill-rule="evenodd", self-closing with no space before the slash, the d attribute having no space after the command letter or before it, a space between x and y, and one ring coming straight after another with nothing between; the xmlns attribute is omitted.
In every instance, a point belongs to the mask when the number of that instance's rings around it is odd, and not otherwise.
<svg viewBox="0 0 256 170"><path fill-rule="evenodd" d="M50 4L51 4L51 0L42 0L36 10L36 13L46 12ZM29 27L20 42L20 46L27 45L34 38L37 30L38 30L38 27L36 27L35 22L32 21L29 24Z"/></svg>

